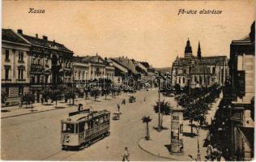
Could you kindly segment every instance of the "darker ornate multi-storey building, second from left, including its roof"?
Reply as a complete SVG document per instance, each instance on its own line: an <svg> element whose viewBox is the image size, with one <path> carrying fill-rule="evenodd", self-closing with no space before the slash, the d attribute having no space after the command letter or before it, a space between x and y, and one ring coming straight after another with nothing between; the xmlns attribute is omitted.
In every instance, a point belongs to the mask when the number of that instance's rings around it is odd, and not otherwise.
<svg viewBox="0 0 256 162"><path fill-rule="evenodd" d="M36 96L37 102L40 102L41 92L45 87L72 83L73 52L70 49L55 40L48 40L47 36L28 36L21 29L18 30L18 35L31 44L28 53L28 78L30 92Z"/></svg>

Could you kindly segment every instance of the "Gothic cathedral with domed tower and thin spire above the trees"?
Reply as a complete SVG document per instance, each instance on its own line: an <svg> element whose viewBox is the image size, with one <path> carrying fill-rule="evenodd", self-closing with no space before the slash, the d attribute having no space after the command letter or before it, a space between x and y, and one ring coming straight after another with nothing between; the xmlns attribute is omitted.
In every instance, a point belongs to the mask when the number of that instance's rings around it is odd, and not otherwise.
<svg viewBox="0 0 256 162"><path fill-rule="evenodd" d="M172 85L184 87L210 87L217 83L224 86L228 79L228 58L226 56L202 57L198 44L198 55L192 53L187 40L184 58L176 58L172 66ZM201 79L202 78L202 79Z"/></svg>

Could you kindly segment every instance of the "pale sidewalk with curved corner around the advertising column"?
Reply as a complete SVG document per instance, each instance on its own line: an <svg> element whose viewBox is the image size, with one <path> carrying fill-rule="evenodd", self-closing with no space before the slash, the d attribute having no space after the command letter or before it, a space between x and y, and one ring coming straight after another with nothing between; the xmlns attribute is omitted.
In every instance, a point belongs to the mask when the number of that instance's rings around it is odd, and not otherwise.
<svg viewBox="0 0 256 162"><path fill-rule="evenodd" d="M173 100L173 99L172 99ZM211 123L211 117L213 118L215 115L216 110L218 109L218 105L220 104L220 98L212 105L211 110L207 113L207 122ZM173 105L175 106L175 105ZM184 144L184 154L183 155L171 155L169 154L169 150L166 147L170 144L170 123L171 117L164 117L164 127L167 127L168 130L162 130L158 132L156 130L151 131L150 140L140 139L139 140L139 147L143 149L143 151L147 151L148 153L154 156L160 156L167 158L169 160L194 160L197 158L198 154L198 143L197 143L197 136L193 138L186 135L190 133L190 126L188 121L183 122L183 144ZM196 133L195 128L193 129L194 133ZM204 140L207 138L208 130L199 130L199 147L200 147L200 156L201 160L205 160L207 147L203 147Z"/></svg>

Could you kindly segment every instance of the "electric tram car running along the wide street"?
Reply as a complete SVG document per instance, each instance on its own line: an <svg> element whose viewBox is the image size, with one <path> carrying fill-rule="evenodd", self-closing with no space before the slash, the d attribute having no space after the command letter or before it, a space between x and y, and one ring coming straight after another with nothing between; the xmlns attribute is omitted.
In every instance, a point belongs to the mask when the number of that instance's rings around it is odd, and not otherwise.
<svg viewBox="0 0 256 162"><path fill-rule="evenodd" d="M109 117L107 110L98 112L84 109L69 113L69 117L61 121L62 147L88 147L96 139L109 136Z"/></svg>

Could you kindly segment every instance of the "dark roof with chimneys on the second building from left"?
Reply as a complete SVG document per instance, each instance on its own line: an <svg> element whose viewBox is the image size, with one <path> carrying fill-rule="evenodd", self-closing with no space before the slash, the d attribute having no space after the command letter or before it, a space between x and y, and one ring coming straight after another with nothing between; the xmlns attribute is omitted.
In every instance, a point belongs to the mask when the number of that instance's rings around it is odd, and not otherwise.
<svg viewBox="0 0 256 162"><path fill-rule="evenodd" d="M67 49L64 45L57 43L55 41L44 40L38 37L28 36L24 34L21 34L21 36L23 36L26 40L32 43L32 45L40 45L47 48L53 48L53 49L64 50L66 52L72 52L70 49Z"/></svg>

